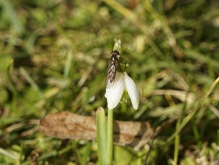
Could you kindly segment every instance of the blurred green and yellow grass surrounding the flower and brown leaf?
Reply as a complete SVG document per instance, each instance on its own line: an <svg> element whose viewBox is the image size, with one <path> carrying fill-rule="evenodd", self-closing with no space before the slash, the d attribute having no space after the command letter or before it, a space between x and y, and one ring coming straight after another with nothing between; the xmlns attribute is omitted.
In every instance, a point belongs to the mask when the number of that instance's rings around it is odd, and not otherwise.
<svg viewBox="0 0 219 165"><path fill-rule="evenodd" d="M106 68L117 37L141 96L137 111L128 100L115 118L150 120L154 128L168 123L147 164L217 158L218 84L198 102L219 76L217 0L0 0L0 20L0 164L97 163L95 142L37 129L54 111L94 116L106 108ZM114 164L142 164L147 151L117 146Z"/></svg>

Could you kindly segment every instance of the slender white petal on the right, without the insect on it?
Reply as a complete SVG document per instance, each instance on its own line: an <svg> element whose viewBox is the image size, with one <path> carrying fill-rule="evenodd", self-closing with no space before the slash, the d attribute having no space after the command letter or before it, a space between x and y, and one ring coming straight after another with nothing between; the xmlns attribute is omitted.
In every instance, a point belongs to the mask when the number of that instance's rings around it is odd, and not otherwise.
<svg viewBox="0 0 219 165"><path fill-rule="evenodd" d="M138 89L134 83L134 81L128 76L128 74L125 72L124 73L124 82L125 82L125 89L127 90L129 97L132 102L132 106L134 107L135 110L138 109L139 105L139 93Z"/></svg>

